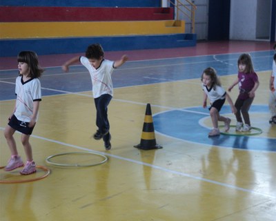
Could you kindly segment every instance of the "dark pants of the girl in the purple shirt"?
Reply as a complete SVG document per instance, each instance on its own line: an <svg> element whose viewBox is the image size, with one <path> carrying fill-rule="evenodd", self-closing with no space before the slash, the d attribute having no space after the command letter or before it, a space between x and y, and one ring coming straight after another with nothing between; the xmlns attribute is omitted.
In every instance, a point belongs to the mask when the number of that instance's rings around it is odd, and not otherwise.
<svg viewBox="0 0 276 221"><path fill-rule="evenodd" d="M237 108L236 119L237 122L242 122L242 117L244 117L244 123L250 126L249 119L249 108L253 102L254 97L249 97L248 99L237 99L235 102L235 107ZM241 115L242 113L242 115Z"/></svg>

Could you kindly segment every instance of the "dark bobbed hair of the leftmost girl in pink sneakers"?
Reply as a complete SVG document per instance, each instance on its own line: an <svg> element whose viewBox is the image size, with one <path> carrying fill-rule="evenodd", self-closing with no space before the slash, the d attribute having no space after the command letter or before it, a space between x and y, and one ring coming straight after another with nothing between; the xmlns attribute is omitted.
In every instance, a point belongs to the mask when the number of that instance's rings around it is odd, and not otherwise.
<svg viewBox="0 0 276 221"><path fill-rule="evenodd" d="M41 77L43 69L39 66L39 59L37 53L33 51L21 51L17 55L17 62L24 62L30 68L30 75L28 77Z"/></svg>

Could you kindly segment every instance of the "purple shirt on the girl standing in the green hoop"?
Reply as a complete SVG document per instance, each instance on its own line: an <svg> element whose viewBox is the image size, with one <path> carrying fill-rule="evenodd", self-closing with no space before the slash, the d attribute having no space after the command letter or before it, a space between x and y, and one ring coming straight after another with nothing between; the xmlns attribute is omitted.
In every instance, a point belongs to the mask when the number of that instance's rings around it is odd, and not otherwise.
<svg viewBox="0 0 276 221"><path fill-rule="evenodd" d="M248 99L249 95L248 93L255 85L255 82L258 81L257 74L254 73L242 73L239 72L237 74L237 77L239 78L239 99Z"/></svg>

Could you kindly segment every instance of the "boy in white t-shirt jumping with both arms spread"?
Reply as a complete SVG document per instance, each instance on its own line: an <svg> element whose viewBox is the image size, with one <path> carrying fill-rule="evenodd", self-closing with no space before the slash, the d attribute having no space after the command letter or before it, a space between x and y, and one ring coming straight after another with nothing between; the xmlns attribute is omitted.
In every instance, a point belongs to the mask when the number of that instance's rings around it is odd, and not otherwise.
<svg viewBox="0 0 276 221"><path fill-rule="evenodd" d="M117 61L109 61L104 59L103 55L104 52L101 45L92 44L88 46L85 57L73 57L63 64L62 69L68 72L69 66L78 61L88 69L92 80L92 93L97 111L96 125L98 129L93 137L95 140L103 138L106 150L110 150L111 135L108 122L108 104L113 96L111 74L115 68L123 65L128 60L128 56L123 55Z"/></svg>

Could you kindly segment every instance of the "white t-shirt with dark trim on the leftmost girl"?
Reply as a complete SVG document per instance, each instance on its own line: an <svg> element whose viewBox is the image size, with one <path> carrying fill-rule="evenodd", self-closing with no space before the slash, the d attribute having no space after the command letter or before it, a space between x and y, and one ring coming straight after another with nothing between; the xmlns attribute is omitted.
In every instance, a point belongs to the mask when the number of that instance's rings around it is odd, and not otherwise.
<svg viewBox="0 0 276 221"><path fill-rule="evenodd" d="M17 95L15 117L22 122L30 122L34 101L41 101L41 84L39 79L33 78L23 82L23 76L17 77L15 81L15 94Z"/></svg>

